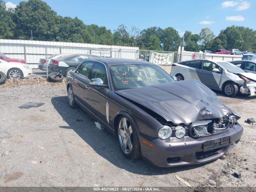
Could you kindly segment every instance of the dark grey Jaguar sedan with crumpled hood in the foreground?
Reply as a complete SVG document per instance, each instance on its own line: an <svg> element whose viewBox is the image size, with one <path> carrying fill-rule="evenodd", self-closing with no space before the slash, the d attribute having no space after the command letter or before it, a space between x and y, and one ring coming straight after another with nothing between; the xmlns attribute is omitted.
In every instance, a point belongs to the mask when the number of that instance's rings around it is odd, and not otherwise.
<svg viewBox="0 0 256 192"><path fill-rule="evenodd" d="M160 167L219 158L239 142L233 110L197 80L174 81L155 64L94 58L68 72L68 102L116 134L126 158Z"/></svg>

